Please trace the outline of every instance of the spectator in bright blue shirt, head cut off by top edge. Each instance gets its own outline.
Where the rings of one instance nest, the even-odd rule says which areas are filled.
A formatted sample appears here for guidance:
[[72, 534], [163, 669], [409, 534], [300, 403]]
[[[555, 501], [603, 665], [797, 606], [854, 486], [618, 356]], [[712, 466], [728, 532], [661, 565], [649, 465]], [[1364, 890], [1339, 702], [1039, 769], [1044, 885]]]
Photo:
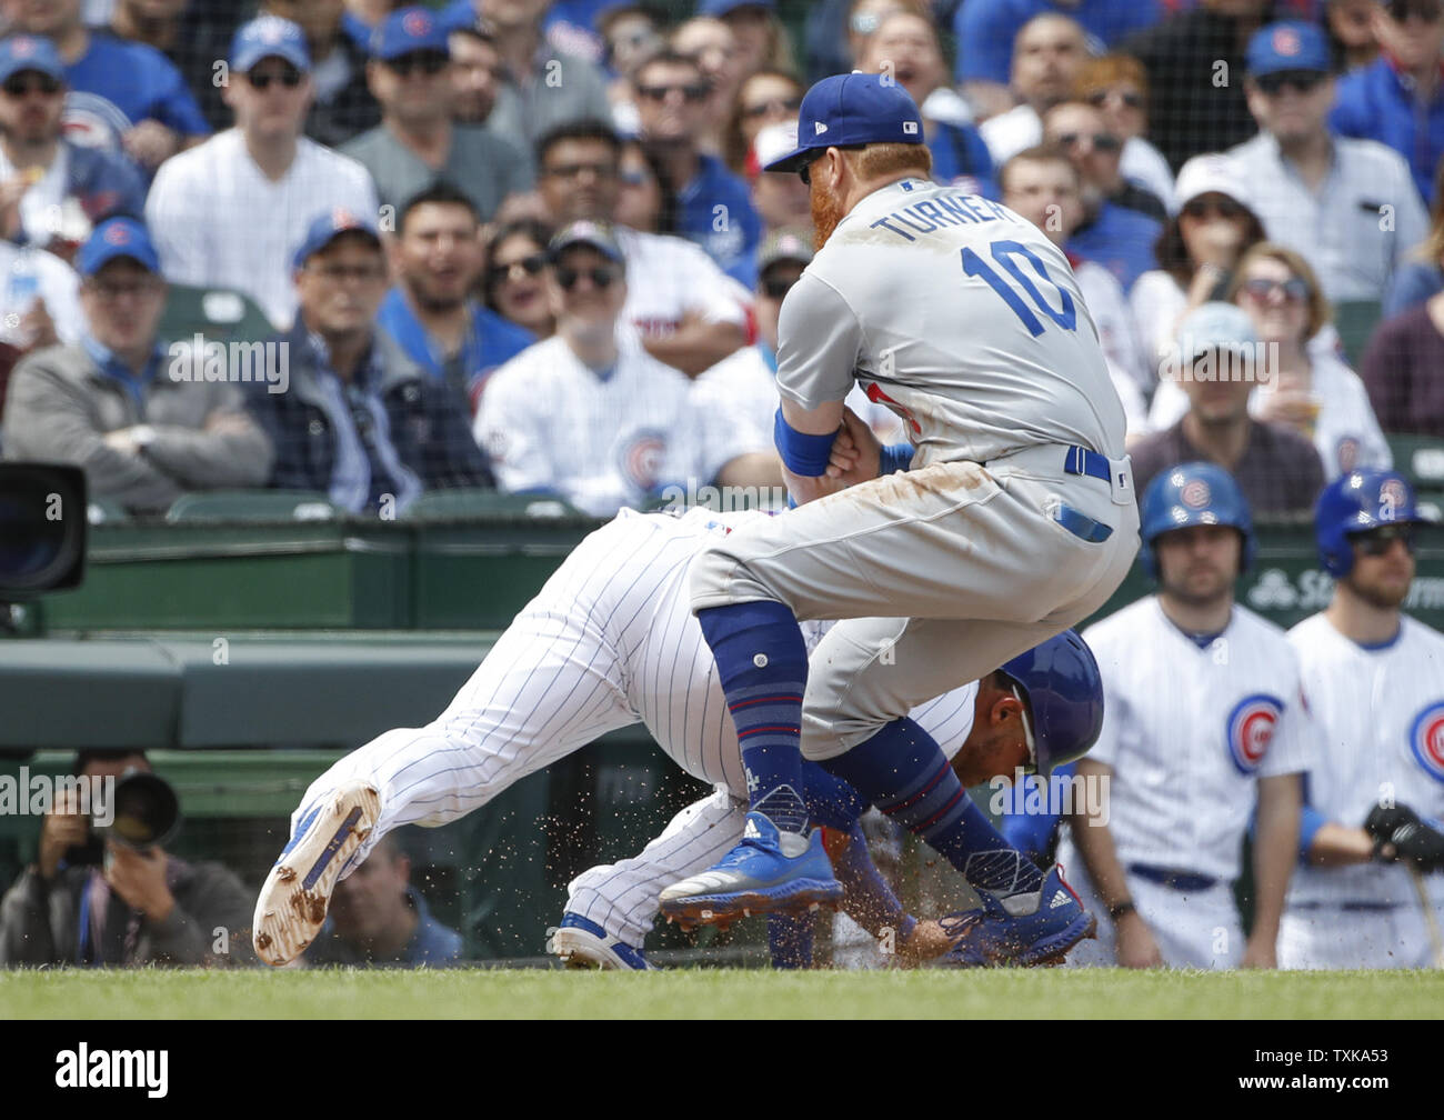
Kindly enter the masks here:
[[1164, 9], [1160, 0], [967, 0], [953, 17], [957, 82], [985, 116], [1001, 113], [1012, 105], [1008, 94], [1012, 40], [1034, 16], [1057, 12], [1077, 20], [1093, 53], [1102, 53], [1102, 48], [1113, 46], [1125, 35], [1155, 25]]

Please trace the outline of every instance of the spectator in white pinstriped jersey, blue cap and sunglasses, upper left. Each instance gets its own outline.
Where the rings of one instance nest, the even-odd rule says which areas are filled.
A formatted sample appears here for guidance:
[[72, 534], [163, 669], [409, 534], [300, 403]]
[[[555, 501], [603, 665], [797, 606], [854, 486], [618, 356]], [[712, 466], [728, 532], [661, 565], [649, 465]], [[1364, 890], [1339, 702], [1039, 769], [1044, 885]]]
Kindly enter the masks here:
[[243, 25], [225, 87], [235, 127], [166, 160], [146, 199], [166, 279], [244, 292], [276, 329], [296, 318], [290, 259], [316, 212], [377, 214], [367, 169], [302, 134], [310, 97], [300, 27], [276, 16]]

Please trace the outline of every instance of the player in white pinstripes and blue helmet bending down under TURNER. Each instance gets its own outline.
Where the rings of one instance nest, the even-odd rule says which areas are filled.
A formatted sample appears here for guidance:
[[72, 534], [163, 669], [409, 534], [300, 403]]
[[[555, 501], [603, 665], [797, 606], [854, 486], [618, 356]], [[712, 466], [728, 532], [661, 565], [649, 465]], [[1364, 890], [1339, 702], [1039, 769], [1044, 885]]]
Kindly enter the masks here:
[[[292, 840], [257, 900], [253, 929], [261, 958], [284, 964], [300, 955], [325, 919], [341, 873], [360, 866], [391, 830], [456, 819], [618, 727], [644, 723], [684, 770], [745, 798], [736, 737], [689, 610], [686, 577], [706, 542], [755, 519], [767, 514], [699, 509], [674, 517], [624, 510], [591, 533], [446, 711], [426, 727], [378, 736], [310, 785], [292, 818]], [[980, 780], [976, 773], [1009, 775], [1028, 762], [1047, 769], [1087, 750], [1096, 734], [1096, 669], [1074, 634], [1057, 643], [1069, 646], [1061, 658], [1073, 676], [1082, 672], [1083, 686], [1070, 701], [1082, 715], [1058, 714], [1063, 692], [1050, 682], [1063, 678], [1064, 665], [1038, 662], [1043, 655], [1011, 668], [1011, 679], [1027, 692], [995, 678], [914, 712], [950, 754], [966, 746], [960, 766], [970, 780]], [[809, 798], [823, 821], [842, 828], [865, 808], [846, 783], [816, 767]], [[736, 843], [741, 830], [738, 817], [735, 827], [713, 830], [696, 845], [689, 841], [684, 851], [669, 844], [664, 871], [644, 905], [656, 912], [670, 876], [706, 866]], [[299, 876], [297, 867], [305, 869]], [[635, 896], [627, 902], [637, 905]], [[598, 925], [617, 928], [606, 915]], [[944, 938], [939, 949], [947, 945]], [[999, 945], [995, 955], [1011, 954]]]

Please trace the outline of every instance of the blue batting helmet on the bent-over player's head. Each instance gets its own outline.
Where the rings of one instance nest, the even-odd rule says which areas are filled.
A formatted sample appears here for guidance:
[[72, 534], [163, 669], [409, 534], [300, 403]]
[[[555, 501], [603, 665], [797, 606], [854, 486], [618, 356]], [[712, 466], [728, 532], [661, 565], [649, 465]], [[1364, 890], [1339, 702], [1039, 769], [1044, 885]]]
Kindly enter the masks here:
[[1001, 672], [1028, 698], [1038, 773], [1087, 754], [1103, 730], [1103, 678], [1076, 630], [1054, 634]]

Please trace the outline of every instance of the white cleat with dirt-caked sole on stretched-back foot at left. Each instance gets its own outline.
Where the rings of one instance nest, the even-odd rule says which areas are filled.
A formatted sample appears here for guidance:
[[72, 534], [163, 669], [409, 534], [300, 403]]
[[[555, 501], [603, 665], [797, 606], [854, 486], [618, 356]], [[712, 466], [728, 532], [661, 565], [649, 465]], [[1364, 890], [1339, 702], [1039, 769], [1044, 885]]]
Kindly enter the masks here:
[[348, 782], [316, 802], [296, 825], [256, 899], [251, 939], [266, 964], [290, 964], [326, 921], [331, 892], [381, 815], [381, 796]]

